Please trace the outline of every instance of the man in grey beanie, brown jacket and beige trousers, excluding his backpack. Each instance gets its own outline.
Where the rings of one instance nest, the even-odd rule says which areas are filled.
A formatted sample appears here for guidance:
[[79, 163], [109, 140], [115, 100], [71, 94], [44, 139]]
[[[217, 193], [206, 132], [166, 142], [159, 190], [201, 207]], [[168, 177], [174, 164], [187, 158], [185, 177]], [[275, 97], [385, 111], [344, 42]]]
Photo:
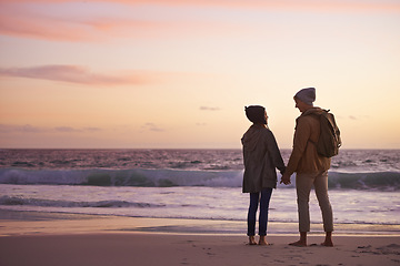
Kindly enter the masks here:
[[290, 176], [296, 172], [296, 190], [299, 212], [300, 239], [289, 245], [307, 246], [307, 233], [310, 232], [309, 197], [314, 186], [322, 212], [326, 239], [323, 246], [333, 246], [333, 214], [328, 197], [328, 170], [331, 160], [318, 154], [316, 143], [320, 135], [319, 114], [323, 112], [314, 108], [316, 89], [306, 88], [294, 95], [296, 108], [301, 115], [296, 120], [293, 150], [281, 183], [290, 184]]

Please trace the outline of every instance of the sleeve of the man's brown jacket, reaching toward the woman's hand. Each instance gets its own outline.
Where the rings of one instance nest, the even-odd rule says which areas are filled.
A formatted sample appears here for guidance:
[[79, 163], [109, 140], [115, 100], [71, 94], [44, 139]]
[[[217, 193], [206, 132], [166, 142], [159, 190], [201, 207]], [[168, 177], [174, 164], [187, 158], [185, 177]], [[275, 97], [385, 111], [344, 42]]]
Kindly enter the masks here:
[[289, 175], [292, 175], [297, 171], [300, 158], [306, 151], [310, 134], [311, 127], [307, 123], [307, 120], [304, 120], [303, 117], [299, 117], [296, 122], [293, 151], [290, 155], [287, 166], [287, 173]]

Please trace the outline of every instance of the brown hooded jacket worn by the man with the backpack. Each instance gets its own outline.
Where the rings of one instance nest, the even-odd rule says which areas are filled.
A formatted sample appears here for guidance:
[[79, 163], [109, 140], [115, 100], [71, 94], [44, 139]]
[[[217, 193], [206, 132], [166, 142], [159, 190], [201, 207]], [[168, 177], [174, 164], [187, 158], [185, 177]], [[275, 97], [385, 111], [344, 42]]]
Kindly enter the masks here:
[[322, 110], [312, 108], [296, 120], [293, 150], [287, 166], [287, 173], [314, 174], [330, 168], [331, 160], [317, 153], [316, 144], [320, 135], [320, 122], [317, 115]]

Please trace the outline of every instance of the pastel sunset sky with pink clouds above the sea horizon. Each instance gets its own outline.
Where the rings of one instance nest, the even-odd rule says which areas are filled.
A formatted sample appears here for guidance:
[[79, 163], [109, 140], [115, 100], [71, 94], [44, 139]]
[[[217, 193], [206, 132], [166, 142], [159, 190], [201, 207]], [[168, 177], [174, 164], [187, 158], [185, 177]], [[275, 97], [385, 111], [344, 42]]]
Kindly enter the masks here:
[[1, 149], [292, 145], [293, 95], [343, 149], [400, 149], [400, 0], [0, 0]]

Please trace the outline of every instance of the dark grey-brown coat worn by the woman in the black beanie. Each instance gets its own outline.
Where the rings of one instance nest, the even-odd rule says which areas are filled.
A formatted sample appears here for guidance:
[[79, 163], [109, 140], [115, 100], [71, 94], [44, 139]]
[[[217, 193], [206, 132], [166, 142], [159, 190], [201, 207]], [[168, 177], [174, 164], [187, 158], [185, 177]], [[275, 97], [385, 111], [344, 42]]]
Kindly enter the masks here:
[[253, 124], [241, 139], [243, 145], [243, 193], [277, 187], [277, 171], [284, 172], [284, 163], [272, 132]]

